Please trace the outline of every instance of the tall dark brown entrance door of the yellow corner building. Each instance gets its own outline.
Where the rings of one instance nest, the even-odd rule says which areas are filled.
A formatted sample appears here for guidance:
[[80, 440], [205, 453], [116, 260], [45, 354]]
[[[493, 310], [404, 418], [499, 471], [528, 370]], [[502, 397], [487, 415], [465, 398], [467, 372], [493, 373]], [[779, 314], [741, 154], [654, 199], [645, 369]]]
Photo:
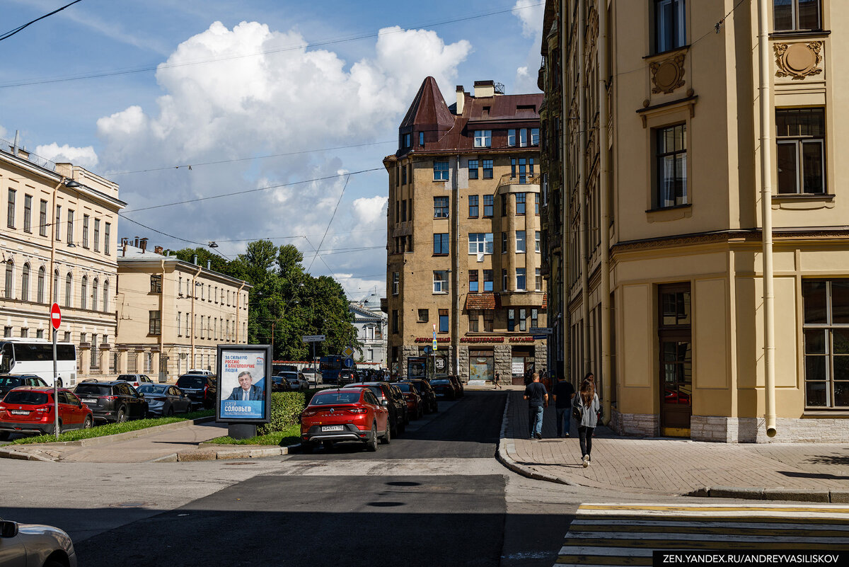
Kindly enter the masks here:
[[661, 435], [689, 437], [693, 413], [693, 345], [689, 283], [660, 287]]

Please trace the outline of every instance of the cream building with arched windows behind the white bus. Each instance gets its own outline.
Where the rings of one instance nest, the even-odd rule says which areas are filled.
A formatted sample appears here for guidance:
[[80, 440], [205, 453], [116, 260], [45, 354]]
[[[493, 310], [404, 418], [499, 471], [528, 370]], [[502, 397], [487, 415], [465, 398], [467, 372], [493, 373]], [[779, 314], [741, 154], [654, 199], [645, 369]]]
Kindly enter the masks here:
[[[109, 373], [116, 334], [118, 184], [55, 164], [0, 140], [3, 336], [50, 340], [50, 305], [62, 309], [59, 341], [77, 347], [76, 382]], [[70, 384], [73, 385], [73, 384]]]

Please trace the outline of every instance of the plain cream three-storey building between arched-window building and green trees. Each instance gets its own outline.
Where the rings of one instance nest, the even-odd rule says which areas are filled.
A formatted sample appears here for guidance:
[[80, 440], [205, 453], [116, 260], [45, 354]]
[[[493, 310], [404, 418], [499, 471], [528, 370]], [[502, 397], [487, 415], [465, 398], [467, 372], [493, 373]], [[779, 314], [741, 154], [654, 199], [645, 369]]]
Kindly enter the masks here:
[[247, 344], [252, 286], [165, 255], [147, 239], [121, 239], [113, 365], [166, 382], [190, 368], [216, 371], [217, 346]]

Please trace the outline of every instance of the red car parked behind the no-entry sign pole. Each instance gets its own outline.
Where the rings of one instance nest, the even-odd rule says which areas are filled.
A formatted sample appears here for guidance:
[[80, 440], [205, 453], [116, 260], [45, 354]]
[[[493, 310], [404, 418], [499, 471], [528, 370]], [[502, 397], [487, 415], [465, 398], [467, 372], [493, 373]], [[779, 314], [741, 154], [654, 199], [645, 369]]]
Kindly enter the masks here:
[[[12, 433], [53, 433], [53, 388], [20, 386], [0, 402], [0, 440]], [[59, 388], [59, 431], [88, 429], [94, 424], [92, 410], [65, 388]]]

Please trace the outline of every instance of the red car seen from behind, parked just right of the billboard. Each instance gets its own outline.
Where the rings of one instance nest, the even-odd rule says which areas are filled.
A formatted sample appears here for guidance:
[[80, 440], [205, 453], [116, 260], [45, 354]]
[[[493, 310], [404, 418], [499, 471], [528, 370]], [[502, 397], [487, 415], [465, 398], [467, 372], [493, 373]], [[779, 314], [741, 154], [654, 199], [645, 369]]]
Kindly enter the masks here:
[[378, 439], [389, 443], [390, 435], [389, 411], [368, 388], [323, 390], [301, 412], [304, 451], [335, 441], [358, 441], [368, 451], [377, 451]]

